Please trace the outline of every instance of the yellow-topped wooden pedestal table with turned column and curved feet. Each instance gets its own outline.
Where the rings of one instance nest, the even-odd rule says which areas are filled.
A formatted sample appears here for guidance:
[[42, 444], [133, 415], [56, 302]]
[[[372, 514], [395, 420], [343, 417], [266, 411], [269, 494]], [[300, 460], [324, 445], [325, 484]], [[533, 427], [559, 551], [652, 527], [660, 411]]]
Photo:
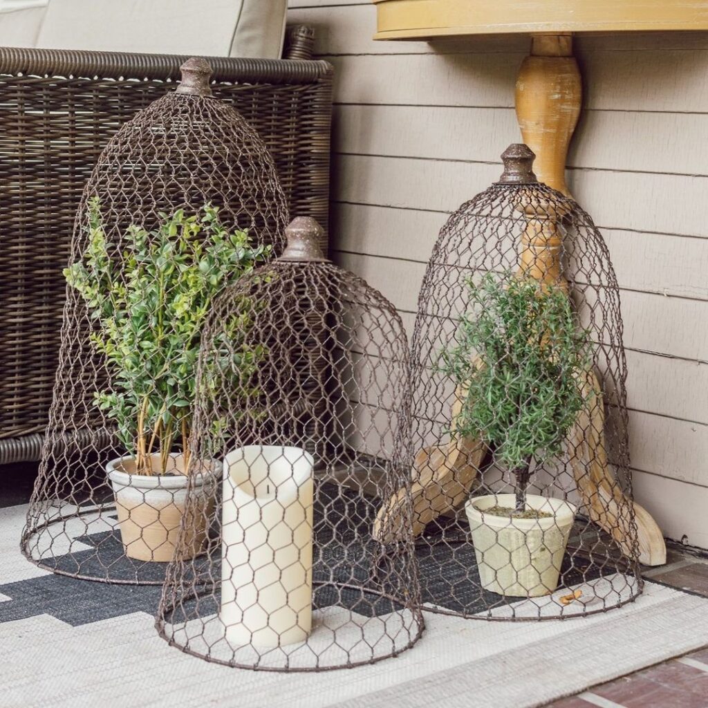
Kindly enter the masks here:
[[[532, 35], [530, 55], [524, 59], [516, 82], [516, 113], [523, 141], [536, 154], [534, 171], [540, 182], [570, 195], [566, 184], [568, 148], [580, 115], [582, 83], [578, 64], [573, 57], [572, 33], [586, 31], [628, 30], [704, 30], [708, 29], [708, 8], [694, 4], [666, 3], [665, 0], [598, 0], [578, 3], [577, 0], [547, 0], [543, 3], [524, 0], [373, 0], [377, 6], [377, 35], [381, 40], [432, 40], [442, 37], [496, 33], [527, 33]], [[513, 136], [510, 136], [510, 140]], [[562, 215], [554, 215], [562, 218]], [[547, 221], [545, 222], [548, 223]], [[555, 282], [567, 287], [560, 269], [561, 235], [534, 229], [534, 219], [520, 244], [520, 270], [542, 282]], [[600, 392], [600, 382], [593, 371], [588, 372], [584, 386]], [[601, 406], [590, 411], [593, 426], [578, 421], [573, 432], [575, 442], [583, 450], [583, 464], [578, 464], [576, 481], [584, 506], [595, 523], [604, 527], [624, 549], [629, 540], [622, 529], [617, 530], [612, 514], [624, 518], [622, 508], [632, 503], [618, 491], [607, 464], [602, 432], [604, 411]], [[599, 426], [599, 428], [598, 428]], [[593, 434], [596, 429], [599, 433]], [[578, 438], [577, 436], [581, 436]], [[445, 513], [440, 496], [457, 500], [467, 496], [475, 474], [469, 464], [461, 461], [461, 450], [473, 450], [481, 457], [474, 441], [455, 440], [447, 447], [426, 448], [418, 452], [413, 471], [413, 504], [423, 508], [426, 523]], [[451, 459], [451, 456], [454, 459]], [[479, 464], [479, 463], [477, 463]], [[581, 468], [593, 474], [581, 475]], [[453, 474], [463, 469], [462, 476]], [[444, 492], [444, 493], [443, 493]], [[398, 513], [399, 499], [387, 500], [379, 515], [377, 528], [383, 536], [394, 530], [392, 519]], [[449, 506], [449, 503], [447, 504]], [[607, 510], [610, 513], [607, 513]], [[640, 560], [646, 565], [666, 562], [666, 544], [651, 515], [634, 503], [639, 536]], [[420, 524], [418, 525], [421, 526]], [[627, 536], [629, 536], [627, 530]]]

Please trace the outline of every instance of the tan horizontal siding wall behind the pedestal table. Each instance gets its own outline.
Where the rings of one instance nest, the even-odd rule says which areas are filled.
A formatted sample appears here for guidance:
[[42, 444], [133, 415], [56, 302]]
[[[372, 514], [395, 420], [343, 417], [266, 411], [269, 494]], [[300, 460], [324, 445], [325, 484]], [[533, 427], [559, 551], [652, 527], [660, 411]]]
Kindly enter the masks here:
[[[410, 327], [438, 229], [520, 139], [525, 38], [373, 42], [367, 0], [290, 0], [336, 67], [334, 257]], [[569, 186], [622, 288], [636, 496], [708, 547], [708, 33], [576, 40], [586, 96]]]

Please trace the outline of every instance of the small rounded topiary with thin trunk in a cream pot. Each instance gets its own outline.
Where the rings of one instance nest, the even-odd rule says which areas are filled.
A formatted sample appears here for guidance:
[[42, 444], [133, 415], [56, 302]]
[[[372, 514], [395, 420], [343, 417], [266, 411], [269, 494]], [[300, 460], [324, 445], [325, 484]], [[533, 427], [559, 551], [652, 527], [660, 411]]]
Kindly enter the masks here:
[[461, 435], [476, 435], [511, 473], [513, 494], [472, 497], [465, 506], [482, 586], [535, 597], [558, 584], [576, 508], [527, 493], [532, 466], [559, 454], [588, 405], [580, 382], [591, 360], [568, 295], [527, 277], [488, 273], [468, 283], [471, 307], [442, 370], [463, 392]]

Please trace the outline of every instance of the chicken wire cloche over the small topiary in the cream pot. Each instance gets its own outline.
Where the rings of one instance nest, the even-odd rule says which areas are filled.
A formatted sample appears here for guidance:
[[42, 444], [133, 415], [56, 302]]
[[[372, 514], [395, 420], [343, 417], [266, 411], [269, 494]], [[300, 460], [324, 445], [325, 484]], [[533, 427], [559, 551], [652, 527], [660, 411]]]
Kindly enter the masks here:
[[[411, 353], [413, 534], [426, 607], [545, 619], [641, 592], [619, 290], [592, 219], [525, 145], [442, 227]], [[377, 516], [397, 538], [409, 490]]]

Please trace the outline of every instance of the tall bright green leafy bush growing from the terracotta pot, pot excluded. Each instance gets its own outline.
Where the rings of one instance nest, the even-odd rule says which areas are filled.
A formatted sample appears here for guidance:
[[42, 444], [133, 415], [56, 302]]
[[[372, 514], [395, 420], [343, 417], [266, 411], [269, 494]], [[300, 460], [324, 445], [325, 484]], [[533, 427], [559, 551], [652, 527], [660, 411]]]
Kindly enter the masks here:
[[[270, 254], [269, 246], [251, 246], [247, 232], [225, 229], [211, 205], [198, 215], [160, 217], [152, 232], [128, 227], [118, 253], [106, 239], [98, 200], [91, 201], [86, 252], [64, 270], [96, 321], [91, 342], [110, 370], [110, 391], [96, 392], [96, 405], [115, 421], [138, 474], [153, 474], [154, 452], [164, 474], [180, 442], [188, 464], [202, 324], [217, 293]], [[245, 341], [246, 315], [224, 324], [234, 354], [219, 370], [246, 392], [263, 350]]]

